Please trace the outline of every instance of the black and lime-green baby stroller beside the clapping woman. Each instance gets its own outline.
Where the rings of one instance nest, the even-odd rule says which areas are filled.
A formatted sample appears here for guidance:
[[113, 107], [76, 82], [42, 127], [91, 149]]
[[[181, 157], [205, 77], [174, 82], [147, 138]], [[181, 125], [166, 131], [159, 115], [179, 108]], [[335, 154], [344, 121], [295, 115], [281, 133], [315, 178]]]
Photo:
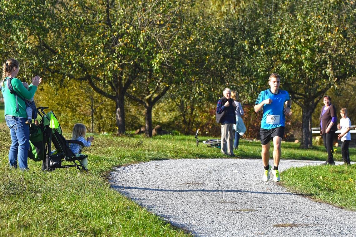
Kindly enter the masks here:
[[[88, 155], [79, 156], [75, 155], [72, 150], [70, 150], [69, 145], [71, 143], [76, 143], [83, 146], [83, 142], [77, 140], [66, 140], [62, 135], [61, 126], [58, 123], [58, 120], [52, 111], [45, 113], [44, 110], [48, 109], [48, 107], [38, 107], [37, 113], [41, 116], [41, 121], [36, 126], [35, 124], [31, 124], [30, 128], [30, 152], [29, 158], [32, 156], [33, 160], [42, 160], [42, 170], [45, 171], [53, 171], [54, 169], [58, 168], [69, 168], [69, 167], [77, 167], [80, 171], [88, 171], [87, 168], [84, 167], [81, 160], [88, 157]], [[41, 111], [41, 113], [39, 112]], [[31, 135], [39, 134], [42, 132], [42, 144], [40, 141], [41, 139], [32, 139]], [[55, 150], [52, 150], [52, 144]], [[43, 149], [41, 153], [40, 150]], [[32, 151], [31, 151], [32, 150]], [[81, 151], [80, 151], [81, 152]], [[79, 152], [79, 153], [80, 153]], [[34, 159], [36, 158], [36, 159]], [[62, 162], [72, 162], [72, 165], [63, 165]]]

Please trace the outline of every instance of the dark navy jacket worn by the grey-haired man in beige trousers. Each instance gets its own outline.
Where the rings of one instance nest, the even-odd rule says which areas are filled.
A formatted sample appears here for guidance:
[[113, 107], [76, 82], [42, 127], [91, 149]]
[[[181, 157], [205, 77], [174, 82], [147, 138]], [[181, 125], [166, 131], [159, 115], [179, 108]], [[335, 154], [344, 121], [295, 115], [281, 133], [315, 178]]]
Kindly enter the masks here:
[[233, 99], [229, 99], [229, 107], [225, 107], [227, 99], [225, 97], [218, 100], [218, 105], [216, 106], [216, 122], [218, 123], [233, 123], [236, 124], [236, 104]]

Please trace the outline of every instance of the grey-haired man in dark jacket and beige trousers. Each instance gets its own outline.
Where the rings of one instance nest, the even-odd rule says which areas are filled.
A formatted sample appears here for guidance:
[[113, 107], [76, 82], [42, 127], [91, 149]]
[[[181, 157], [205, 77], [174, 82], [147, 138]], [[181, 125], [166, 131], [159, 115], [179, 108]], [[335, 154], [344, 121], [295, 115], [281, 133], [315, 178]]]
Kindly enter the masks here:
[[225, 88], [224, 97], [220, 98], [216, 106], [216, 122], [221, 123], [221, 152], [225, 155], [234, 154], [234, 124], [236, 124], [236, 104], [231, 98], [231, 90]]

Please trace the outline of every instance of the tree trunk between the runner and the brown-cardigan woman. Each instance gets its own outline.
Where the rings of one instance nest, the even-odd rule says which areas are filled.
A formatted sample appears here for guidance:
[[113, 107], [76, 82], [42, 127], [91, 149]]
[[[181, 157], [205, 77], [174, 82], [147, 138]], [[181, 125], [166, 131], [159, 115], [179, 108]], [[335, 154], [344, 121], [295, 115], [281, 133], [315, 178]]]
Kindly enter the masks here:
[[312, 113], [313, 108], [304, 104], [302, 107], [302, 141], [300, 148], [308, 149], [313, 145], [312, 142]]

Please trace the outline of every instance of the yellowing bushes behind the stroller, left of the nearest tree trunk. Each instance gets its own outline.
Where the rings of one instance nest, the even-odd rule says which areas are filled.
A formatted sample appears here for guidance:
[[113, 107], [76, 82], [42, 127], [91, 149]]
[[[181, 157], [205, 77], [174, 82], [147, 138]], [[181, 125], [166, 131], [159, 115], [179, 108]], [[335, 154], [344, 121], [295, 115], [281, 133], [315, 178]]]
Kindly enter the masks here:
[[59, 89], [40, 85], [35, 95], [36, 106], [49, 107], [46, 111], [56, 114], [64, 131], [71, 132], [74, 124], [83, 123], [89, 133], [116, 132], [115, 118], [107, 113], [115, 109], [112, 101], [83, 82], [66, 80], [65, 85]]

